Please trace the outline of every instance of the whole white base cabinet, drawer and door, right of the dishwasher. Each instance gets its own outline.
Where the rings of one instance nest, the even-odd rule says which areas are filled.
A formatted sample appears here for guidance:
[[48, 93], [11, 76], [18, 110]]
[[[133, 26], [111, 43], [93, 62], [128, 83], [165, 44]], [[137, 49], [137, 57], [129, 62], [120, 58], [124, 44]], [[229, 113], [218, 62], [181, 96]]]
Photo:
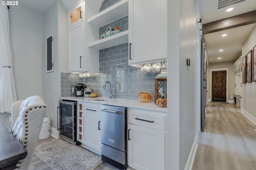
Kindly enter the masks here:
[[136, 170], [164, 170], [165, 115], [128, 108], [128, 165]]

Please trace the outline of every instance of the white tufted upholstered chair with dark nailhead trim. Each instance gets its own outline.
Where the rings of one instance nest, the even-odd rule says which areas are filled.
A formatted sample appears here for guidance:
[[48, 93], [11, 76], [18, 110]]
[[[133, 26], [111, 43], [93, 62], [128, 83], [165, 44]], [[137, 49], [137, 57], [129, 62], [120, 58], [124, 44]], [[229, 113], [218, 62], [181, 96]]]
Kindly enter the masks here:
[[27, 150], [26, 158], [20, 160], [17, 168], [28, 170], [41, 131], [46, 104], [39, 96], [31, 96], [12, 104], [11, 133]]

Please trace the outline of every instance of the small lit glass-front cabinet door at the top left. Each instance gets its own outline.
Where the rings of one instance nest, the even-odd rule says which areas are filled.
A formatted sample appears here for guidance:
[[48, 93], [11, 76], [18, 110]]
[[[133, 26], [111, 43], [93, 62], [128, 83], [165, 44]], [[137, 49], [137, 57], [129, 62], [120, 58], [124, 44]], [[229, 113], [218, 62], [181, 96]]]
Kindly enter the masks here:
[[84, 3], [75, 6], [68, 12], [69, 27], [84, 20]]

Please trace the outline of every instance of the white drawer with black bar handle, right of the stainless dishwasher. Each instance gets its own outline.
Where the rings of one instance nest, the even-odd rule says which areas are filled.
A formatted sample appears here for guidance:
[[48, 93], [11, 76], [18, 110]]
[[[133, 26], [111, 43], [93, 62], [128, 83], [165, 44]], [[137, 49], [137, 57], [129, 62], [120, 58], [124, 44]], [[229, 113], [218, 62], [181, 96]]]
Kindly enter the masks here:
[[128, 108], [128, 117], [129, 123], [164, 131], [165, 116], [157, 111]]

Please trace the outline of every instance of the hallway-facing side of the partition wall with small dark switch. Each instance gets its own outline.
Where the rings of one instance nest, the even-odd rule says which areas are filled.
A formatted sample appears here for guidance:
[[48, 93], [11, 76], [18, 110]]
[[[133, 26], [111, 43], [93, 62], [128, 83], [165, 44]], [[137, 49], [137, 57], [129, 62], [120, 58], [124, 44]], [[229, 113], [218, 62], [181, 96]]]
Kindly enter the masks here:
[[[184, 170], [197, 137], [196, 0], [180, 0], [180, 170]], [[190, 66], [187, 66], [190, 59]]]

